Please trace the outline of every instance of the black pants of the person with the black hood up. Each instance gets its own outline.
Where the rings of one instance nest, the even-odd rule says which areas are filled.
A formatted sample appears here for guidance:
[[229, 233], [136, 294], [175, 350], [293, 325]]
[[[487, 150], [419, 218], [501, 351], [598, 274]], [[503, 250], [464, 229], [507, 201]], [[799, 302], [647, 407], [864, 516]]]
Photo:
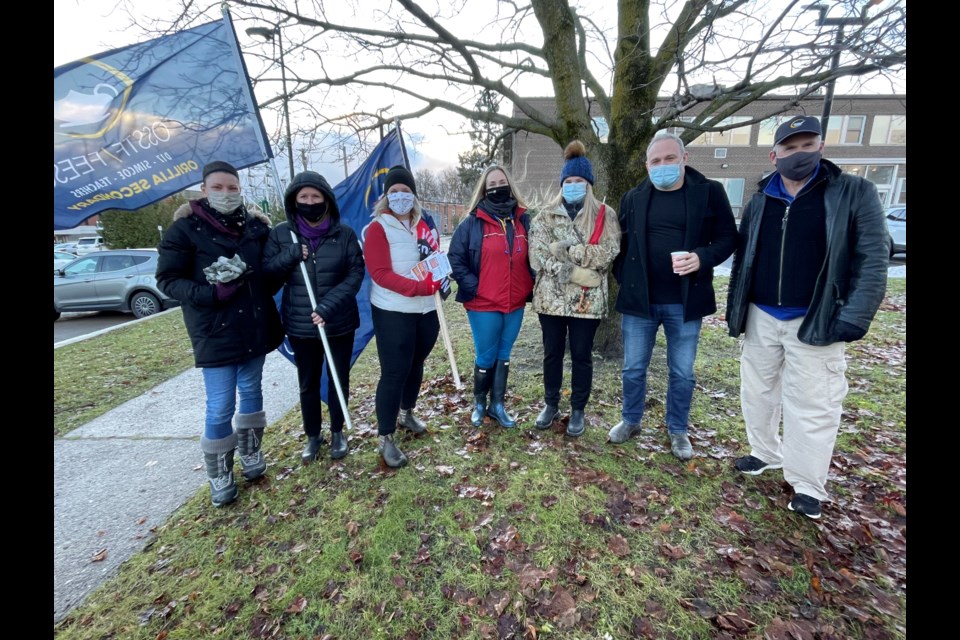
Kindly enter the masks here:
[[[350, 357], [353, 355], [353, 334], [327, 336], [333, 364], [337, 368], [343, 399], [350, 400]], [[297, 379], [300, 381], [300, 413], [303, 414], [303, 430], [308, 436], [320, 435], [323, 419], [323, 404], [320, 401], [320, 376], [323, 374], [323, 342], [319, 333], [316, 338], [289, 336], [293, 347], [293, 360], [297, 363]], [[330, 430], [343, 431], [343, 409], [337, 397], [333, 376], [327, 371], [327, 407], [330, 409]]]

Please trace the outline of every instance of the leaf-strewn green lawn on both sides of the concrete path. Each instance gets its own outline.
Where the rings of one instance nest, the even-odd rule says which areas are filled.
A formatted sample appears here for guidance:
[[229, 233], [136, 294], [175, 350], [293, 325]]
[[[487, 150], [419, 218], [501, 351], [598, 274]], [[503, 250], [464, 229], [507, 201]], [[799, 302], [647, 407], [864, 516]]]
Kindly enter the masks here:
[[[718, 291], [726, 285], [717, 279]], [[643, 432], [614, 447], [605, 441], [619, 420], [618, 359], [596, 359], [583, 437], [567, 438], [562, 423], [533, 429], [542, 349], [529, 310], [507, 398], [519, 428], [471, 427], [470, 332], [462, 306], [450, 300], [444, 309], [468, 386], [454, 388], [438, 340], [418, 404], [430, 429], [398, 435], [407, 468], [378, 463], [371, 344], [352, 372], [347, 458], [301, 466], [294, 409], [265, 436], [264, 478], [244, 483], [223, 509], [200, 491], [55, 627], [57, 637], [906, 637], [905, 280], [889, 281], [870, 333], [847, 349], [833, 501], [817, 522], [786, 509], [779, 471], [748, 477], [732, 468], [748, 447], [739, 342], [722, 319], [704, 323], [691, 414], [696, 456], [681, 463], [663, 422], [662, 336]], [[142, 352], [171, 359], [170, 375], [189, 366], [180, 359], [189, 356], [182, 321], [173, 318], [165, 322], [180, 322], [182, 336], [164, 326], [81, 343], [85, 376], [61, 374], [68, 367], [59, 350], [57, 433], [118, 404], [117, 381], [129, 381], [124, 399], [159, 382], [146, 382], [161, 367]], [[129, 342], [101, 345], [121, 338]], [[92, 361], [110, 371], [94, 374]], [[87, 399], [68, 406], [61, 395], [70, 388], [72, 398], [73, 385]], [[561, 409], [569, 415], [569, 403]]]

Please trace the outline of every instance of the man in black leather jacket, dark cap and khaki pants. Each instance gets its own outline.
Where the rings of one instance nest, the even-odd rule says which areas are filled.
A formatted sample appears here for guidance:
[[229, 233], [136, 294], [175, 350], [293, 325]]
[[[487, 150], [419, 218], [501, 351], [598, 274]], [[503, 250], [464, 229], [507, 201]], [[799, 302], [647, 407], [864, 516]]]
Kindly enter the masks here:
[[822, 158], [817, 118], [790, 118], [774, 140], [777, 170], [744, 209], [727, 297], [730, 335], [744, 334], [751, 448], [735, 466], [782, 468], [789, 509], [816, 519], [847, 394], [844, 343], [866, 335], [883, 300], [889, 240], [873, 183]]

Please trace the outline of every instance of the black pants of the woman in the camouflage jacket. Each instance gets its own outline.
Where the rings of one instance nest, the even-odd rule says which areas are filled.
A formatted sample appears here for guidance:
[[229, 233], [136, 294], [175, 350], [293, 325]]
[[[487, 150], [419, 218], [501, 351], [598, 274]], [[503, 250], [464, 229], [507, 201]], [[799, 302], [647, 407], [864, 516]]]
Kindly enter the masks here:
[[563, 354], [570, 338], [570, 408], [583, 410], [593, 388], [593, 338], [600, 320], [537, 314], [543, 331], [543, 399], [548, 405], [560, 404], [563, 384]]

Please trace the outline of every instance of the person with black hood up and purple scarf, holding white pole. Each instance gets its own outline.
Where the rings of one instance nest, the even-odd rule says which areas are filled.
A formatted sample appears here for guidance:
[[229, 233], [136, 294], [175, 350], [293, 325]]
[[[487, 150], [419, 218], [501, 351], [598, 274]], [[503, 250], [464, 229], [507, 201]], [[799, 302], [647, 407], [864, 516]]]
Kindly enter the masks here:
[[[309, 464], [320, 455], [320, 447], [325, 442], [320, 431], [324, 350], [317, 327], [323, 327], [327, 334], [328, 355], [333, 358], [346, 399], [353, 338], [360, 326], [357, 292], [363, 284], [363, 252], [353, 229], [340, 224], [340, 209], [333, 189], [319, 173], [304, 171], [294, 176], [284, 193], [283, 205], [287, 221], [270, 232], [264, 250], [264, 267], [268, 274], [281, 278], [286, 285], [281, 313], [300, 382], [300, 411], [307, 435], [301, 458], [304, 464]], [[304, 282], [301, 262], [306, 262], [309, 282]], [[316, 307], [310, 303], [307, 286], [313, 290]], [[333, 376], [328, 375], [330, 457], [336, 460], [347, 455], [349, 446], [343, 434], [343, 409], [334, 385]]]

